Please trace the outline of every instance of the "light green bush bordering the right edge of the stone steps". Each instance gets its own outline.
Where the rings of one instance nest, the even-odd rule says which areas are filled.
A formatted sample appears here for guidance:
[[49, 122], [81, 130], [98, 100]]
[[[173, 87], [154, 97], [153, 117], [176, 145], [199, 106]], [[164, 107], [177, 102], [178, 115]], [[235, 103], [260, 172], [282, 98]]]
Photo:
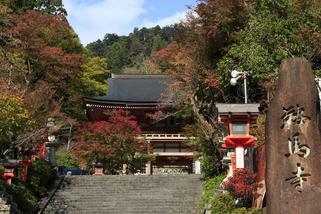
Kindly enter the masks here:
[[218, 176], [215, 176], [214, 178], [210, 178], [209, 180], [203, 182], [202, 187], [203, 187], [203, 195], [202, 195], [202, 207], [206, 203], [209, 203], [209, 197], [212, 197], [214, 194], [215, 189], [220, 188], [220, 184], [225, 178], [225, 173], [222, 173]]

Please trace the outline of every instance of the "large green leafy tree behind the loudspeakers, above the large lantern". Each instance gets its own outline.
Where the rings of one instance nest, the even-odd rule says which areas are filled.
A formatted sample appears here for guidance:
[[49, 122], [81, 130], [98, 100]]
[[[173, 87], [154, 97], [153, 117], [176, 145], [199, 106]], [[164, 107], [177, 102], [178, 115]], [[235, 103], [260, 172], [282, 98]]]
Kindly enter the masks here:
[[[237, 86], [240, 93], [232, 94], [230, 91], [235, 91], [235, 87], [226, 83], [231, 70], [251, 70], [253, 75], [249, 78], [248, 98], [250, 101], [263, 101], [268, 106], [268, 92], [260, 88], [262, 84], [267, 84], [264, 79], [275, 81], [282, 60], [302, 56], [308, 58], [314, 48], [320, 47], [321, 23], [318, 17], [321, 4], [313, 4], [313, 1], [260, 0], [253, 7], [247, 26], [219, 60], [217, 71], [222, 72], [221, 81], [228, 91], [228, 98], [242, 100], [242, 85]], [[313, 65], [313, 68], [319, 75], [320, 66]]]

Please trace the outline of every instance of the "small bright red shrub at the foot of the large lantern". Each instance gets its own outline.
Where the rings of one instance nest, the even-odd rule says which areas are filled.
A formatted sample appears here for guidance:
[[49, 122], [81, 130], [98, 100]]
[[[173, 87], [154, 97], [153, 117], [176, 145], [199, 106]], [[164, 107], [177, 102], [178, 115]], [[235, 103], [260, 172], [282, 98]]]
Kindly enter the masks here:
[[260, 196], [256, 191], [263, 187], [263, 184], [255, 181], [255, 177], [256, 173], [251, 170], [235, 170], [233, 176], [229, 177], [223, 186], [234, 198], [251, 200]]

